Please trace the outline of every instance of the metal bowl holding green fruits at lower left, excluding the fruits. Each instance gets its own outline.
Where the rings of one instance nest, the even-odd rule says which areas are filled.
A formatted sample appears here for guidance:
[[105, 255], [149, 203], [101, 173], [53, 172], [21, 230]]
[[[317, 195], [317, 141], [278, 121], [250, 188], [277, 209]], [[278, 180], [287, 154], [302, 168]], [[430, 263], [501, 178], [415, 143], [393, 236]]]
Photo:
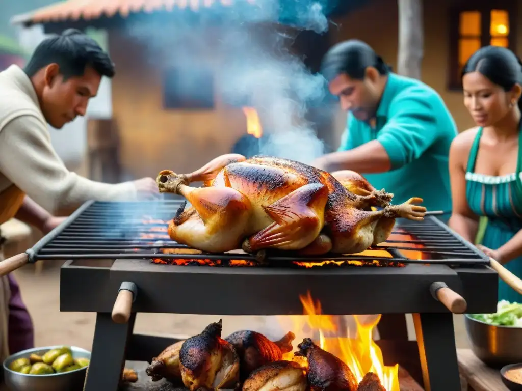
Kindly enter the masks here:
[[[41, 356], [46, 351], [61, 347], [63, 345], [27, 349], [6, 358], [4, 361], [4, 381], [7, 388], [11, 391], [74, 391], [83, 389], [87, 373], [86, 366], [75, 371], [53, 373], [51, 375], [28, 375], [9, 369], [11, 362], [16, 359], [29, 357], [33, 353]], [[76, 346], [70, 347], [70, 350], [75, 359], [91, 358], [91, 353], [88, 350]]]

